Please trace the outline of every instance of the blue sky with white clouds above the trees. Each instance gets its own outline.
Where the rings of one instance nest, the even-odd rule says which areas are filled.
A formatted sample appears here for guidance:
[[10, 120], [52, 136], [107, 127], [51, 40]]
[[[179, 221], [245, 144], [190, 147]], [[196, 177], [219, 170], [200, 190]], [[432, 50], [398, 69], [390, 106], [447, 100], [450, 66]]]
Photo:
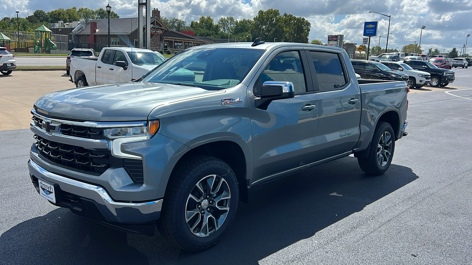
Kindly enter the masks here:
[[[108, 3], [120, 17], [136, 17], [138, 0], [0, 0], [0, 17], [15, 17], [20, 11], [26, 17], [36, 9], [51, 11], [72, 6], [100, 8]], [[391, 15], [388, 48], [401, 49], [409, 43], [420, 42], [429, 48], [460, 50], [466, 35], [472, 35], [472, 0], [151, 0], [152, 8], [161, 11], [161, 17], [184, 19], [187, 25], [200, 16], [211, 16], [215, 22], [219, 17], [235, 19], [253, 18], [259, 10], [278, 9], [304, 17], [311, 24], [309, 40], [328, 41], [328, 35], [344, 34], [344, 40], [362, 43], [364, 21], [379, 21], [379, 35], [387, 34], [388, 17], [368, 11]], [[379, 36], [378, 35], [378, 36]], [[371, 46], [379, 44], [379, 37], [371, 38]], [[472, 54], [472, 36], [467, 50]], [[387, 36], [380, 38], [385, 47]], [[469, 47], [470, 46], [470, 47]]]

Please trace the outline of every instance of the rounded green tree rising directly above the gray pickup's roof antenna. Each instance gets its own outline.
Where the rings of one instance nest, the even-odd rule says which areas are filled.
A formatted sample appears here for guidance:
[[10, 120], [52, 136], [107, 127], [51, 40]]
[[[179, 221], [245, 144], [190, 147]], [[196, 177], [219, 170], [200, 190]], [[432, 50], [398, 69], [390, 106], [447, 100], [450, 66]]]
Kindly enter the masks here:
[[284, 41], [285, 25], [278, 9], [259, 10], [254, 17], [253, 37], [260, 37], [263, 41]]

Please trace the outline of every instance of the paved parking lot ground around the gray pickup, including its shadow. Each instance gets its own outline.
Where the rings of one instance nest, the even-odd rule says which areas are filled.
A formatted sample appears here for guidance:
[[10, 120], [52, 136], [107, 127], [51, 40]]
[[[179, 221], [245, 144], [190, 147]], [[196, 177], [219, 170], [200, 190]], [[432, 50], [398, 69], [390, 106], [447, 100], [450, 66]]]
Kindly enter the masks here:
[[19, 130], [1, 124], [0, 264], [472, 264], [472, 69], [454, 70], [447, 88], [408, 95], [409, 135], [386, 174], [367, 176], [345, 157], [258, 186], [223, 240], [200, 253], [41, 198], [26, 166], [33, 134], [21, 126], [35, 97], [72, 83], [60, 71], [1, 77], [0, 122], [9, 104]]

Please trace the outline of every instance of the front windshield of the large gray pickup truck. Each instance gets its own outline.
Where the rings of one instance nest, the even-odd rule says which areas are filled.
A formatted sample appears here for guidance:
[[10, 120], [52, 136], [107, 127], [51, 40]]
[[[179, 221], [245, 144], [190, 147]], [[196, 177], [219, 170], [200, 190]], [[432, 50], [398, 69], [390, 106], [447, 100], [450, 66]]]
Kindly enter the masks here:
[[241, 83], [264, 51], [230, 48], [186, 50], [152, 70], [143, 82], [178, 82], [207, 90], [231, 88]]

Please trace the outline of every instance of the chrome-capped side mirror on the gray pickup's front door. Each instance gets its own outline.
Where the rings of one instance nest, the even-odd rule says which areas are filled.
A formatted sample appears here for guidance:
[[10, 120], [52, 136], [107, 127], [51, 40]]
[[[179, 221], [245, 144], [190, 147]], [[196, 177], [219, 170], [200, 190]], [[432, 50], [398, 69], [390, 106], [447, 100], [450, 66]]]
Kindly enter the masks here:
[[262, 84], [261, 98], [256, 99], [256, 107], [267, 110], [270, 102], [277, 99], [292, 99], [295, 97], [292, 82], [267, 81]]

